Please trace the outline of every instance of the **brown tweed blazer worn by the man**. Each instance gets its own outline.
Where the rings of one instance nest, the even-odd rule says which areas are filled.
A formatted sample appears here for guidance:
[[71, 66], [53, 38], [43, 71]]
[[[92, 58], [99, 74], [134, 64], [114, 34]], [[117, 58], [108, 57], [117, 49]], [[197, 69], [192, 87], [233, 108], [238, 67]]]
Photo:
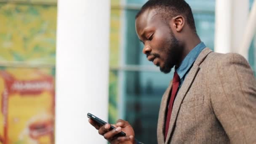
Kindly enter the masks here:
[[256, 144], [256, 80], [243, 56], [203, 49], [176, 95], [165, 141], [171, 87], [160, 105], [158, 144]]

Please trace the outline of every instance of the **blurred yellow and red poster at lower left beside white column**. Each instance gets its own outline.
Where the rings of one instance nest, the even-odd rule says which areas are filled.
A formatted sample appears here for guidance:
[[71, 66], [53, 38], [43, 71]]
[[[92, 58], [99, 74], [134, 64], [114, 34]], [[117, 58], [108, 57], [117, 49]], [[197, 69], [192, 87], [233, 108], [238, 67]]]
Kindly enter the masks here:
[[0, 140], [3, 144], [54, 143], [51, 68], [0, 70]]

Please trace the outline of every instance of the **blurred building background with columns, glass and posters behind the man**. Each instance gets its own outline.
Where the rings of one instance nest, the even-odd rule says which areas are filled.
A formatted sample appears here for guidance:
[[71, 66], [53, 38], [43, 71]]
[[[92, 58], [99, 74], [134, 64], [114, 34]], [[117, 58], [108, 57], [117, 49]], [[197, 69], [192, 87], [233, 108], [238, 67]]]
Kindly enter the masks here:
[[[146, 1], [0, 0], [0, 143], [107, 143], [91, 112], [127, 120], [136, 139], [156, 144], [173, 72], [142, 53], [135, 15]], [[186, 1], [205, 45], [242, 54], [255, 73], [254, 0]]]

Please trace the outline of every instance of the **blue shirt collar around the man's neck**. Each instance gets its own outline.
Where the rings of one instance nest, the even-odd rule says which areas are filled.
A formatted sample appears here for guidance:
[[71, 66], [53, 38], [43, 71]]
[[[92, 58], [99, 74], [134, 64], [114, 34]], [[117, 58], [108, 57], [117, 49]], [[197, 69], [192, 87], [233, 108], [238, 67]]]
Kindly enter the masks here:
[[189, 54], [187, 54], [185, 59], [181, 62], [180, 67], [176, 69], [176, 72], [178, 73], [180, 79], [184, 78], [184, 75], [186, 75], [187, 71], [197, 59], [197, 56], [205, 47], [205, 44], [201, 42], [195, 48], [193, 48], [192, 51], [189, 52]]

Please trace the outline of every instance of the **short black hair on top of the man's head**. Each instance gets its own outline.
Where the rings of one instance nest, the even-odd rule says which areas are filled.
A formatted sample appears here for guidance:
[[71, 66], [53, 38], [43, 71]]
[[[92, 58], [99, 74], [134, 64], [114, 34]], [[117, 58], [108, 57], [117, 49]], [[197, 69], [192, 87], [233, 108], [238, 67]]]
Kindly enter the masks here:
[[185, 0], [149, 0], [141, 7], [135, 18], [137, 19], [144, 11], [153, 8], [162, 14], [164, 21], [177, 15], [184, 16], [189, 27], [196, 33], [192, 10]]

